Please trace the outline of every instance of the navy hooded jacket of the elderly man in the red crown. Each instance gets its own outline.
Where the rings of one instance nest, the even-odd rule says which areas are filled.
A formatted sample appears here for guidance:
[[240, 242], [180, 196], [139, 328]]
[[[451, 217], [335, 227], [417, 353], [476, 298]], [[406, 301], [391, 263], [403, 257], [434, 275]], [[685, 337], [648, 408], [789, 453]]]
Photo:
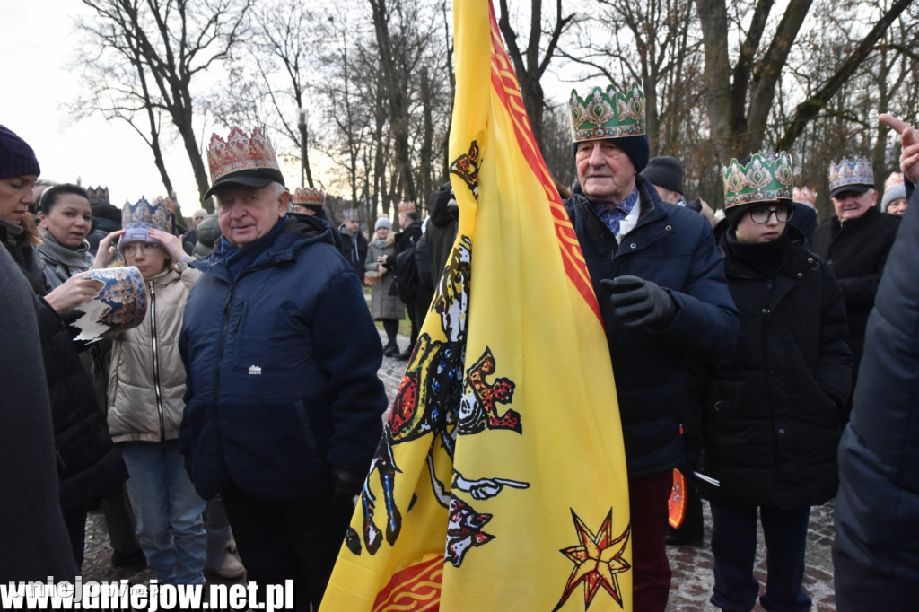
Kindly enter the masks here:
[[179, 432], [205, 499], [231, 483], [265, 499], [327, 494], [380, 441], [382, 345], [360, 281], [323, 221], [287, 221], [233, 280], [224, 249], [192, 263], [179, 347]]

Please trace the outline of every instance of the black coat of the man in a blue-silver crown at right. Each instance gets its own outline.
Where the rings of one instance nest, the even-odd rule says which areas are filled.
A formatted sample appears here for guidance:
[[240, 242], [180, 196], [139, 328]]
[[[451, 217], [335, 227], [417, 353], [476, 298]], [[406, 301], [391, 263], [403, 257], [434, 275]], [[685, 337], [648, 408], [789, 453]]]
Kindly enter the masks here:
[[813, 233], [811, 250], [826, 262], [843, 290], [848, 345], [856, 368], [865, 344], [868, 313], [899, 227], [900, 217], [871, 208], [845, 223], [838, 217], [827, 219]]

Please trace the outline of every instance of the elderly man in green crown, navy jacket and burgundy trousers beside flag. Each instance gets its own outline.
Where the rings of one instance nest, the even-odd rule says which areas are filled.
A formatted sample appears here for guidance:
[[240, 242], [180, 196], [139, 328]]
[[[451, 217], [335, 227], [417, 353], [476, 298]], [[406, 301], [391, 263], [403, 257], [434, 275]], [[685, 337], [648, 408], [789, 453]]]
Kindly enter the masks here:
[[[667, 499], [680, 461], [686, 363], [730, 348], [740, 321], [709, 222], [664, 204], [644, 96], [610, 85], [569, 102], [578, 182], [566, 202], [607, 330], [629, 470], [633, 606], [663, 612]], [[590, 372], [584, 372], [590, 378]]]

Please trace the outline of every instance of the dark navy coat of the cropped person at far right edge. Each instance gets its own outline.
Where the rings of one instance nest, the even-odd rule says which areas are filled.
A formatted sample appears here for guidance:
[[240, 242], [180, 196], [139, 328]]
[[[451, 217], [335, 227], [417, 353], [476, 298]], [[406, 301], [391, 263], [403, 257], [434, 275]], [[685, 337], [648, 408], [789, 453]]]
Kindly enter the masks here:
[[913, 191], [868, 318], [852, 420], [839, 445], [834, 553], [891, 582], [919, 581], [917, 251], [919, 191]]

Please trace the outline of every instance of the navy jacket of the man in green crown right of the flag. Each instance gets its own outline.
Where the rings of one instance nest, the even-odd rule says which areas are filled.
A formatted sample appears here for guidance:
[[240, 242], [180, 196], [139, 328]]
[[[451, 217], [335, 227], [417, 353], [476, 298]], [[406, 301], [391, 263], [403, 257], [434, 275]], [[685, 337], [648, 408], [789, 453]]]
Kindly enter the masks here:
[[[565, 203], [607, 331], [630, 478], [671, 470], [680, 461], [686, 362], [731, 348], [740, 331], [709, 221], [661, 202], [643, 177], [635, 180], [641, 213], [622, 244], [597, 218], [580, 186]], [[624, 275], [668, 290], [676, 303], [669, 326], [650, 332], [619, 323], [600, 280]], [[588, 381], [590, 374], [580, 373]]]

